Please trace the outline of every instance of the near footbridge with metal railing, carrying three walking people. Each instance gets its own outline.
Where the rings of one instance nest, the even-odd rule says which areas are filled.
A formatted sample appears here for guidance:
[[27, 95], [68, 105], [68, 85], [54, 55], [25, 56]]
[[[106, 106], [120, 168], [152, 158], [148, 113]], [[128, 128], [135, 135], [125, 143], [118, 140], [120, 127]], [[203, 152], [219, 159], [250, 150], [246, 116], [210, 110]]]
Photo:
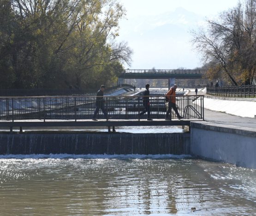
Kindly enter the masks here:
[[143, 96], [107, 96], [103, 97], [107, 119], [100, 112], [99, 121], [93, 121], [95, 96], [69, 97], [0, 97], [0, 128], [23, 127], [88, 127], [88, 126], [189, 126], [191, 121], [204, 119], [203, 96], [176, 96], [179, 114], [184, 117], [178, 120], [172, 112], [170, 119], [165, 120], [167, 103], [164, 95], [149, 96], [151, 118], [143, 111]]

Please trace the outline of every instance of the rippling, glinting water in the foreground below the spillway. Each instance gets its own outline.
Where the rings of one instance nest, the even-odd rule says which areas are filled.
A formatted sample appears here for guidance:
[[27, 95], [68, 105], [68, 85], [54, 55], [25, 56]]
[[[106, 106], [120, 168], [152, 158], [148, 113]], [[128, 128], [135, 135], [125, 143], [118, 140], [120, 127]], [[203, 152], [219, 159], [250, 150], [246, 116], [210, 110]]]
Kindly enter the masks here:
[[0, 159], [1, 214], [256, 212], [255, 170], [172, 155], [34, 156]]

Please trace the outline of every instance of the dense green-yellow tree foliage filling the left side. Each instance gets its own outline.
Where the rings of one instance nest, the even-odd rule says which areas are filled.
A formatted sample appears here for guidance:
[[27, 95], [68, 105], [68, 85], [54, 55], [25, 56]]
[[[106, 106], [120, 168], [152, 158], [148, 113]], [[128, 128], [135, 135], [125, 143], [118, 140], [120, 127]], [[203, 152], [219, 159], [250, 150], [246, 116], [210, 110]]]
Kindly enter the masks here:
[[0, 0], [1, 87], [95, 88], [131, 62], [115, 0]]

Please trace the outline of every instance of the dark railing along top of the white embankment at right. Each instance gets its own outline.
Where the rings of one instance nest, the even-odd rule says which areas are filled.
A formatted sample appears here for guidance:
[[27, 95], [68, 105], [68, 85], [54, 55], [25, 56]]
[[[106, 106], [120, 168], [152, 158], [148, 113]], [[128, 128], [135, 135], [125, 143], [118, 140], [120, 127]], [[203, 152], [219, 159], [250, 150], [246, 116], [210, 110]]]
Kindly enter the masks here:
[[256, 85], [207, 87], [207, 94], [222, 97], [255, 97]]

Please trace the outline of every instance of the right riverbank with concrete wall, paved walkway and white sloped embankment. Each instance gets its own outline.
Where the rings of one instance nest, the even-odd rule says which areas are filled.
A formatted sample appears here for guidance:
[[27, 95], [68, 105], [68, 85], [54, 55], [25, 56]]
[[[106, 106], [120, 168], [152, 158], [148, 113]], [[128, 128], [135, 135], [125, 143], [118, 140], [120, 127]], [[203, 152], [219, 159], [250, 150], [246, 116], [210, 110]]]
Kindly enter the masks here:
[[255, 115], [256, 98], [205, 95], [205, 121], [191, 122], [191, 155], [256, 169]]

